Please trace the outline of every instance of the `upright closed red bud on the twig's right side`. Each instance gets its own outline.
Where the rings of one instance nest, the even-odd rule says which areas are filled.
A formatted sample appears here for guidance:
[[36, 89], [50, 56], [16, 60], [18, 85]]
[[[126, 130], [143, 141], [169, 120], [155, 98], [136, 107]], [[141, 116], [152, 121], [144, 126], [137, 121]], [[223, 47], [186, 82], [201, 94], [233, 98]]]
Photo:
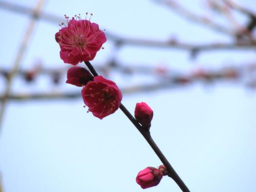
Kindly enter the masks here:
[[137, 103], [135, 107], [135, 118], [145, 128], [151, 127], [153, 111], [145, 102]]

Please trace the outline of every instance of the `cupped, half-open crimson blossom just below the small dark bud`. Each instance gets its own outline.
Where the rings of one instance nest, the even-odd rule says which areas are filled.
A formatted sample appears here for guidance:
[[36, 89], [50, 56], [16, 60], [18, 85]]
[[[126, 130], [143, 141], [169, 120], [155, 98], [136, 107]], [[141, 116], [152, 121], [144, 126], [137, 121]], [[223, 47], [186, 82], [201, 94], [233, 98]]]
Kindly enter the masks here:
[[82, 98], [89, 111], [102, 119], [119, 108], [122, 93], [115, 82], [96, 76], [94, 81], [88, 82], [82, 89]]

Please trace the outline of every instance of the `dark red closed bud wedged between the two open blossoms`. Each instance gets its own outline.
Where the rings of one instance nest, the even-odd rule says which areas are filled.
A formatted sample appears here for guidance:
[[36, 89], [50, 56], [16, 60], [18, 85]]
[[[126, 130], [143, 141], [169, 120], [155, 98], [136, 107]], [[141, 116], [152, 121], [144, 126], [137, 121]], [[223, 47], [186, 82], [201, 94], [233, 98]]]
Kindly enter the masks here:
[[72, 67], [68, 70], [67, 74], [68, 80], [66, 83], [73, 84], [77, 87], [85, 86], [89, 81], [93, 80], [91, 73], [81, 67]]

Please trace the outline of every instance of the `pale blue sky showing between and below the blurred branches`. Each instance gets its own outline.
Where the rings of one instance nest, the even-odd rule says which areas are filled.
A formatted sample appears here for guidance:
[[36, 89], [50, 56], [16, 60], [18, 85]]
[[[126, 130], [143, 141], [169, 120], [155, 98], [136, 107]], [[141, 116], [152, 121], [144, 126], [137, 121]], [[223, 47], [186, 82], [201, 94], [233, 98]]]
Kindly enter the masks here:
[[[10, 1], [33, 6], [34, 0]], [[201, 1], [186, 6], [202, 13]], [[252, 3], [254, 2], [254, 3]], [[255, 1], [243, 1], [247, 6]], [[44, 11], [56, 15], [92, 12], [92, 21], [102, 29], [130, 37], [164, 40], [174, 34], [189, 42], [229, 41], [230, 38], [188, 23], [154, 1], [53, 1]], [[0, 65], [11, 67], [28, 17], [0, 9]], [[241, 18], [243, 20], [244, 18]], [[67, 65], [59, 58], [54, 40], [58, 25], [38, 23], [22, 68], [41, 59], [46, 67]], [[110, 58], [108, 41], [95, 61]], [[229, 63], [255, 60], [253, 51], [216, 51], [191, 61], [186, 51], [123, 47], [117, 59], [123, 63], [166, 63], [177, 70], [197, 66], [219, 69]], [[52, 66], [52, 65], [58, 66]], [[134, 79], [111, 77], [123, 85]], [[0, 91], [3, 91], [4, 81]], [[41, 78], [25, 87], [16, 79], [13, 92], [56, 91]], [[65, 83], [61, 89], [79, 90]], [[242, 84], [217, 83], [164, 91], [123, 95], [122, 103], [132, 113], [136, 102], [154, 110], [151, 133], [167, 159], [191, 191], [256, 191], [256, 97]], [[82, 98], [53, 101], [10, 101], [0, 138], [0, 172], [5, 192], [142, 191], [135, 182], [146, 166], [160, 160], [132, 123], [118, 110], [99, 120], [86, 113]], [[146, 191], [180, 191], [168, 177]]]

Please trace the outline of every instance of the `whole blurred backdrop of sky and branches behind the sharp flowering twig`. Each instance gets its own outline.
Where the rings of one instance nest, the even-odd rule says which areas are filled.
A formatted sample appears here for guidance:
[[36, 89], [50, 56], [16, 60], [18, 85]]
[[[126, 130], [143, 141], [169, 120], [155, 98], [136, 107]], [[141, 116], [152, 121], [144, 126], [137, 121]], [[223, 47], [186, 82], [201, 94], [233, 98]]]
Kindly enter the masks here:
[[[161, 165], [120, 110], [99, 120], [83, 108], [81, 88], [65, 83], [71, 66], [54, 35], [64, 14], [86, 12], [108, 35], [92, 64], [124, 91], [131, 113], [136, 102], [151, 106], [152, 137], [188, 188], [256, 191], [256, 46], [246, 31], [254, 17], [223, 2], [46, 1], [5, 99], [2, 191], [142, 191], [137, 173]], [[237, 3], [256, 11], [255, 1]], [[37, 4], [0, 1], [2, 103]], [[168, 177], [145, 190], [180, 191]]]

